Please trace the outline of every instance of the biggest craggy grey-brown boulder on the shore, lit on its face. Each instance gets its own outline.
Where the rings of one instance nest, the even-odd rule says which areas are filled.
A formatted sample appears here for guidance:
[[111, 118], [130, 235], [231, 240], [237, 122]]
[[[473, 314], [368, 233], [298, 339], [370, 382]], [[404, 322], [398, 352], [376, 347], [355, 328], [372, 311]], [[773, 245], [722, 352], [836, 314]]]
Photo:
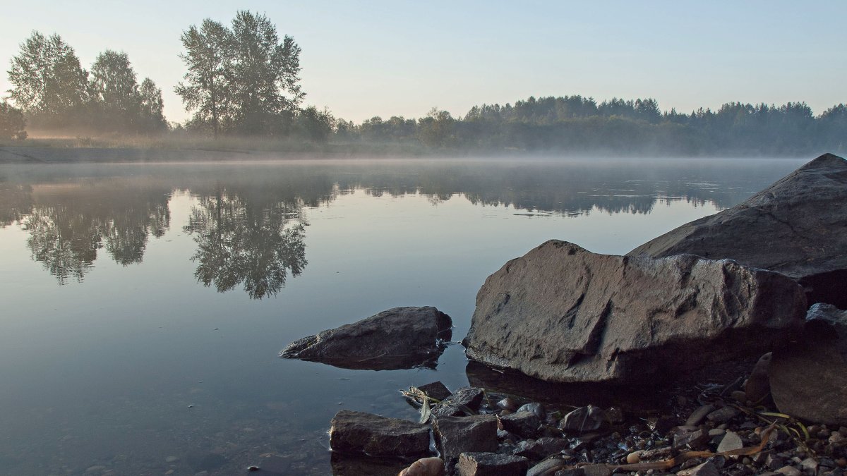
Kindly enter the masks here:
[[782, 274], [554, 240], [485, 280], [463, 344], [473, 360], [540, 379], [643, 384], [761, 355], [804, 315], [803, 289]]

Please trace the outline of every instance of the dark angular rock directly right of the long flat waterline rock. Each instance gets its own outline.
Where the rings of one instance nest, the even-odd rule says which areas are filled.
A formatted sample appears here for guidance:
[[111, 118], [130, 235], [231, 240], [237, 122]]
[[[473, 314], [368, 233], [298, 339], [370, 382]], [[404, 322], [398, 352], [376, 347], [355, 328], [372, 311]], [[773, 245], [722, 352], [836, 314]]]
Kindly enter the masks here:
[[494, 415], [435, 418], [433, 429], [448, 468], [461, 453], [497, 450], [497, 418]]

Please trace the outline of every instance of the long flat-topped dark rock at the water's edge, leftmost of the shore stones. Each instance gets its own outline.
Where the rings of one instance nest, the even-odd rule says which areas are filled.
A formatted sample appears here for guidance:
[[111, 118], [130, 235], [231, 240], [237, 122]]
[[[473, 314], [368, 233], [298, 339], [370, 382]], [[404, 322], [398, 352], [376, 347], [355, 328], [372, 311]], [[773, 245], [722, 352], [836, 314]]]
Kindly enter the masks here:
[[429, 426], [367, 412], [341, 410], [332, 418], [329, 447], [375, 457], [429, 456]]

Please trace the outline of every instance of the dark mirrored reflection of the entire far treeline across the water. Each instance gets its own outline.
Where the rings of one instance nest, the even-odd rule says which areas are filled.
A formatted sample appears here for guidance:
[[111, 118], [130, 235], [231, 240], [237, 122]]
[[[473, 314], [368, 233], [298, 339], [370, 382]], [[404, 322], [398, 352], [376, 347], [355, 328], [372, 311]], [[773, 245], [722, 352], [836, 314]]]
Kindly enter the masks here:
[[[169, 195], [198, 196], [183, 230], [195, 235], [195, 276], [252, 298], [272, 296], [306, 266], [303, 208], [364, 190], [370, 196], [426, 196], [433, 206], [463, 196], [515, 214], [576, 217], [651, 213], [677, 200], [725, 208], [776, 180], [796, 163], [498, 161], [318, 161], [277, 164], [160, 165], [108, 171], [60, 166], [0, 177], [0, 227], [29, 233], [33, 260], [60, 284], [81, 281], [105, 248], [114, 262], [140, 263], [152, 235], [169, 228]], [[3, 170], [0, 170], [2, 173]]]

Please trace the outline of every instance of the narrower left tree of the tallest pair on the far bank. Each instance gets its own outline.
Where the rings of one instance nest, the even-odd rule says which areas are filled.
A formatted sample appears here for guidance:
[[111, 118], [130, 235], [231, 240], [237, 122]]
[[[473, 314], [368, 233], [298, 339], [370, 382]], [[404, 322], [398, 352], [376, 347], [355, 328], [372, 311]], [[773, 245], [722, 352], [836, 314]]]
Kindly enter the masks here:
[[232, 33], [212, 19], [204, 19], [200, 28], [191, 25], [182, 33], [185, 53], [180, 58], [188, 67], [185, 84], [176, 86], [176, 93], [185, 102], [185, 110], [196, 111], [195, 122], [211, 123], [217, 137], [221, 118], [229, 110], [227, 69], [232, 53]]

